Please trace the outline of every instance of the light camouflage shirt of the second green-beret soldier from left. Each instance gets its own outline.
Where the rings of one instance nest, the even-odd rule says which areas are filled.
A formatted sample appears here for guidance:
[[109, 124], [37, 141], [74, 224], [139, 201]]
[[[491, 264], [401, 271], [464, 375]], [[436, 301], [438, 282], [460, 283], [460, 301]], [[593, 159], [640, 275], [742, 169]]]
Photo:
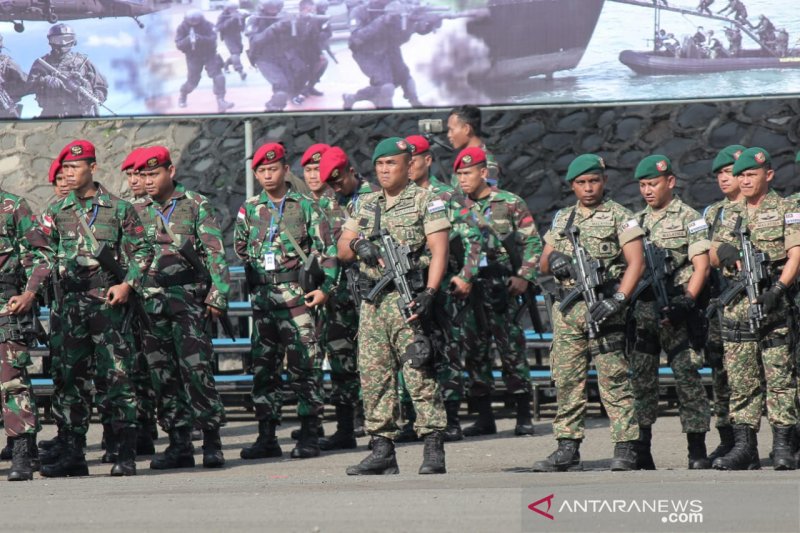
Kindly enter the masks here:
[[[578, 241], [594, 259], [603, 262], [607, 280], [618, 280], [625, 272], [625, 256], [622, 247], [644, 236], [644, 231], [633, 213], [611, 199], [594, 208], [583, 207], [576, 202], [571, 208], [560, 209], [553, 217], [544, 242], [557, 252], [571, 256], [574, 253], [564, 230], [574, 211], [573, 224], [580, 230]], [[574, 285], [573, 280], [561, 282]]]

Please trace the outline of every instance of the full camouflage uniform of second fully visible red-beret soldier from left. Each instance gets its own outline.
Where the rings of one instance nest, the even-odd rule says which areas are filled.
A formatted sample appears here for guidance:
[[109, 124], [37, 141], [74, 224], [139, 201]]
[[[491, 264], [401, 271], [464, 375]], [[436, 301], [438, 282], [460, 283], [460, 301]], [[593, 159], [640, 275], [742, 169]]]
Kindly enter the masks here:
[[[163, 205], [146, 197], [142, 222], [154, 243], [155, 257], [145, 280], [145, 309], [152, 327], [144, 332], [147, 357], [161, 427], [214, 430], [225, 423], [225, 410], [214, 384], [214, 351], [206, 306], [228, 308], [230, 275], [222, 232], [208, 199], [175, 184]], [[166, 228], [169, 228], [169, 231]], [[199, 278], [178, 249], [193, 244], [211, 275]]]

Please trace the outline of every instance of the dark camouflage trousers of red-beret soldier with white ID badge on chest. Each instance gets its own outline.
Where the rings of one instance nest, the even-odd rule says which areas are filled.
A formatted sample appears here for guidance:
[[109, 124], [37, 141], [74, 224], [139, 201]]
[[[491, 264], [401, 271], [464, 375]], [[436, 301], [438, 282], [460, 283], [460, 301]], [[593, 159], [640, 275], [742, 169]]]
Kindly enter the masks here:
[[256, 295], [250, 344], [257, 420], [281, 420], [284, 357], [289, 388], [297, 395], [297, 415], [322, 415], [321, 361], [315, 324], [315, 312], [305, 305], [275, 306], [269, 298]]

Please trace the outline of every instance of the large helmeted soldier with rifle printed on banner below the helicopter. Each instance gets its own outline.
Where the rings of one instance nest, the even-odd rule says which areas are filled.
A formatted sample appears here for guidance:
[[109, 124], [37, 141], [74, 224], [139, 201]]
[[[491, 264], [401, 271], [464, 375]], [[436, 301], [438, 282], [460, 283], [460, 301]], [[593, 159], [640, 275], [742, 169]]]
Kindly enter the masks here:
[[42, 108], [40, 117], [96, 117], [106, 101], [108, 83], [89, 58], [71, 52], [78, 44], [66, 24], [47, 31], [50, 53], [34, 61], [28, 84]]

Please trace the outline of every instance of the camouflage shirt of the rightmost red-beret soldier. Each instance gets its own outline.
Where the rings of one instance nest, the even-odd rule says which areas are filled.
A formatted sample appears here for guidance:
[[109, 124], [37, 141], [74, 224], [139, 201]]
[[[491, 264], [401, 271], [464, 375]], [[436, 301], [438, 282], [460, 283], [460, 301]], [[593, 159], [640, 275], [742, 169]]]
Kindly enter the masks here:
[[[515, 276], [528, 281], [535, 281], [539, 275], [539, 256], [542, 255], [542, 240], [536, 231], [525, 200], [514, 193], [492, 187], [488, 196], [473, 200], [466, 199], [467, 208], [478, 218], [483, 232], [486, 260], [489, 263], [501, 263], [511, 268], [508, 252], [501, 239], [514, 234], [522, 266]], [[492, 230], [484, 228], [489, 223]], [[499, 236], [499, 239], [498, 239]]]

